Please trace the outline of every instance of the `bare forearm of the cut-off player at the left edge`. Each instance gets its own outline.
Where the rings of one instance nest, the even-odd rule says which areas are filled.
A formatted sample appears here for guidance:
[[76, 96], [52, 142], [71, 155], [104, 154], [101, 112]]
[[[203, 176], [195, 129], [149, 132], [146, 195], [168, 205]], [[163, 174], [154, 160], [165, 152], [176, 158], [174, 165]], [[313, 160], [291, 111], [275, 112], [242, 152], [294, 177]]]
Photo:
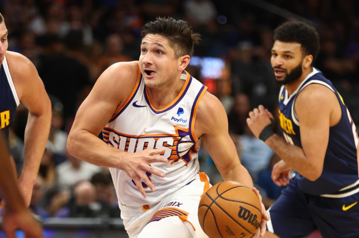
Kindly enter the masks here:
[[19, 180], [34, 184], [51, 125], [51, 107], [42, 115], [29, 113], [25, 128], [24, 165]]

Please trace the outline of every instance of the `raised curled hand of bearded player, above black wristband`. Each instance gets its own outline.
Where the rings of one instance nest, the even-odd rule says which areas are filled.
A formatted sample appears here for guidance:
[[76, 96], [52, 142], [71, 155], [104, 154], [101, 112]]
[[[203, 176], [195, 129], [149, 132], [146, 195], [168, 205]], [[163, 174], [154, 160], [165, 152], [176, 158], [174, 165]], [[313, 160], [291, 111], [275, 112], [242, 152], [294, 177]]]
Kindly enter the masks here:
[[249, 112], [247, 124], [257, 138], [259, 138], [264, 127], [271, 124], [270, 117], [273, 118], [271, 113], [266, 110], [263, 105], [259, 105], [258, 108], [254, 108], [253, 111]]

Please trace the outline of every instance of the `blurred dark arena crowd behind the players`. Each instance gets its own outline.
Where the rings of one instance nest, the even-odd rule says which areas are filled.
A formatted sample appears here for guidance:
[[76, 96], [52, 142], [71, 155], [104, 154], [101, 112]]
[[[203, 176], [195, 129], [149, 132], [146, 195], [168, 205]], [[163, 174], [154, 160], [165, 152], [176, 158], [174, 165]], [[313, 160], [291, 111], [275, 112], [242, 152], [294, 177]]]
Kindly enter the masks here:
[[[50, 136], [30, 206], [42, 218], [119, 217], [108, 169], [71, 156], [66, 140], [77, 108], [99, 75], [113, 63], [138, 60], [141, 27], [158, 16], [186, 20], [202, 35], [187, 71], [223, 103], [238, 155], [267, 207], [280, 194], [281, 188], [270, 179], [271, 167], [280, 158], [252, 135], [246, 118], [259, 104], [278, 114], [279, 86], [269, 60], [273, 30], [288, 20], [284, 16], [301, 16], [316, 27], [321, 49], [314, 66], [334, 83], [354, 122], [359, 123], [359, 3], [355, 0], [274, 0], [271, 5], [260, 0], [0, 3], [9, 31], [8, 50], [31, 59], [52, 102]], [[27, 113], [25, 107], [18, 107], [10, 133], [18, 173]], [[205, 148], [199, 157], [211, 184], [221, 181]]]

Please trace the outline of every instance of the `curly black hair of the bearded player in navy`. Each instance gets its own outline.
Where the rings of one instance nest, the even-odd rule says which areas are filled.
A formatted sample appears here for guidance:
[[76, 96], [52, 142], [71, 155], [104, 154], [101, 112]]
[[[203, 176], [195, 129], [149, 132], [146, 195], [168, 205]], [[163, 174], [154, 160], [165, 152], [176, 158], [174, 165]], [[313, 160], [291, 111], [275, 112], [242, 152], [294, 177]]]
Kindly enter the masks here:
[[318, 32], [314, 27], [302, 21], [288, 21], [278, 26], [274, 30], [273, 39], [299, 43], [304, 55], [313, 55], [313, 62], [318, 56], [320, 49]]

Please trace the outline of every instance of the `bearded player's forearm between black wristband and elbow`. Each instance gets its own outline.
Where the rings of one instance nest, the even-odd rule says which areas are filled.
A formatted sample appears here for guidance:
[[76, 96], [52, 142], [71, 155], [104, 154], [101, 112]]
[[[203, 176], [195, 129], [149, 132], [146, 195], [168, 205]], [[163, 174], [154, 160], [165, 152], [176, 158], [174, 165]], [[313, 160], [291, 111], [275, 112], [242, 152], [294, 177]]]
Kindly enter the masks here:
[[269, 137], [265, 142], [282, 160], [299, 174], [312, 180], [316, 177], [313, 172], [318, 168], [308, 159], [302, 148], [289, 144], [277, 134]]

